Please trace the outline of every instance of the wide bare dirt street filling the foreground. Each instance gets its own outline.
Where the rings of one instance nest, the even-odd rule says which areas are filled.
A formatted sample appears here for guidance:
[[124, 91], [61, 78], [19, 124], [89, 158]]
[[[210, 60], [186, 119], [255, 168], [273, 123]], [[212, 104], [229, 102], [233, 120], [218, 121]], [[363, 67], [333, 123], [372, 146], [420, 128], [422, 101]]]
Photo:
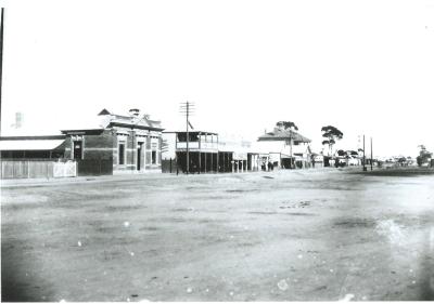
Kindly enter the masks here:
[[434, 300], [434, 175], [3, 186], [3, 301]]

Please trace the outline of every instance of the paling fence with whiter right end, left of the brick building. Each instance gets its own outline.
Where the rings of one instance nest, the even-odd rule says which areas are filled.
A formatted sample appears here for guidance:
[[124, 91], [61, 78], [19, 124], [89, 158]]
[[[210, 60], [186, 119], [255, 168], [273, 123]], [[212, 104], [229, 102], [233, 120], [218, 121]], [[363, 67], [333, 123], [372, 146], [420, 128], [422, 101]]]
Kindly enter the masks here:
[[75, 161], [52, 159], [1, 160], [1, 179], [52, 179], [77, 176]]

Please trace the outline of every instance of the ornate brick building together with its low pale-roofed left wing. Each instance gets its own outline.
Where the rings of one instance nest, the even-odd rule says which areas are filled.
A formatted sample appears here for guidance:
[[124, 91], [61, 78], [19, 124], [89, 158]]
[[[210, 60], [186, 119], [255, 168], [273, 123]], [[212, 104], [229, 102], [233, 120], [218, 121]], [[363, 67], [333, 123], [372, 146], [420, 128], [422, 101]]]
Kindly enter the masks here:
[[103, 109], [86, 125], [64, 129], [61, 135], [0, 137], [1, 158], [74, 160], [78, 175], [159, 172], [163, 130], [139, 109], [129, 115]]

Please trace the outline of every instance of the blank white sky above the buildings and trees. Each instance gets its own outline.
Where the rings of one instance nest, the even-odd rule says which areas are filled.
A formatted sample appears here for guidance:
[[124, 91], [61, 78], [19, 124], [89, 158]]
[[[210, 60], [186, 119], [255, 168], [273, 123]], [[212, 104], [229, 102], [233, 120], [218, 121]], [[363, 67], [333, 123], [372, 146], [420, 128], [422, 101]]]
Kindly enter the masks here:
[[86, 127], [140, 108], [183, 130], [256, 141], [293, 121], [373, 138], [374, 156], [434, 150], [434, 0], [5, 1], [2, 135]]

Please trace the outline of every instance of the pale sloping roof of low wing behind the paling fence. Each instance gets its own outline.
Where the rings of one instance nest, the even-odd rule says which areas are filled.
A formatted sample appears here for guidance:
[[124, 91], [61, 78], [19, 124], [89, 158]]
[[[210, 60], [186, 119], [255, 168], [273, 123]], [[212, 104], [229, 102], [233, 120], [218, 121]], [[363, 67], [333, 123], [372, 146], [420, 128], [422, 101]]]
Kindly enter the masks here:
[[62, 136], [1, 137], [0, 150], [54, 150], [64, 142]]

